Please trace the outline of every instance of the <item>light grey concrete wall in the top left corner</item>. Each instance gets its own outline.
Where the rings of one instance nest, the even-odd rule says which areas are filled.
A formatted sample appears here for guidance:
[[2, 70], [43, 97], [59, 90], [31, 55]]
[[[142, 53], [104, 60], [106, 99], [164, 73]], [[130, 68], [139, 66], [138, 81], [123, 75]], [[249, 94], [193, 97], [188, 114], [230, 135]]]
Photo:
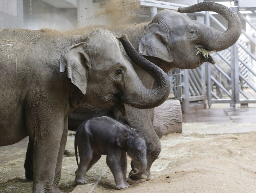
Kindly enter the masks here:
[[22, 26], [23, 0], [0, 0], [0, 29]]

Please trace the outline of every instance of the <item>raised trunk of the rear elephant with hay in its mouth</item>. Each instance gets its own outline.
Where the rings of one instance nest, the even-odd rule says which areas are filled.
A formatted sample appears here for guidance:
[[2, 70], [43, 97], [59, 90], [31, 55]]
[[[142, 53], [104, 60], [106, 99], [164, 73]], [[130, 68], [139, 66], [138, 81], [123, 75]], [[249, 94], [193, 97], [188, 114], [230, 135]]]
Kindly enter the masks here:
[[242, 26], [239, 17], [234, 11], [224, 5], [213, 2], [203, 2], [178, 9], [180, 13], [194, 13], [198, 11], [214, 11], [228, 21], [228, 29], [225, 32], [220, 32], [204, 24], [202, 24], [201, 28], [198, 28], [198, 34], [201, 36], [200, 40], [203, 40], [205, 49], [220, 51], [229, 48], [238, 40]]

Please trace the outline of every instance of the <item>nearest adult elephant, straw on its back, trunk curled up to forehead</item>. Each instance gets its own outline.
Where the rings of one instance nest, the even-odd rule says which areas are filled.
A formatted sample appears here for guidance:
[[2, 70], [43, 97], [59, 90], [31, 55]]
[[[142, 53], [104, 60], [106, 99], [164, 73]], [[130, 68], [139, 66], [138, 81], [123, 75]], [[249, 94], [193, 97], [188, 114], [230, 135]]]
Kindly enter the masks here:
[[154, 89], [142, 84], [122, 44], [107, 30], [81, 37], [15, 29], [0, 35], [0, 146], [26, 136], [33, 140], [33, 192], [60, 192], [68, 114], [77, 106], [123, 109], [124, 102], [152, 108], [169, 95], [164, 71], [124, 35], [119, 40], [128, 55], [156, 78]]

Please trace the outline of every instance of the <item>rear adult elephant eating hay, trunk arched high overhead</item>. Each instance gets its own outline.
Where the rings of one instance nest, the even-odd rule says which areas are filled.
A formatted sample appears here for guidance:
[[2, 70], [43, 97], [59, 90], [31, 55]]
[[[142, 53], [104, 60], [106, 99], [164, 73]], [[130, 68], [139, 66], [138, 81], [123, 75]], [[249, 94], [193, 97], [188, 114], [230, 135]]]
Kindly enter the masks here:
[[[181, 13], [198, 11], [214, 11], [222, 15], [228, 21], [228, 29], [225, 32], [217, 31], [197, 21], [189, 19]], [[211, 57], [205, 58], [197, 54], [197, 48], [208, 51], [220, 51], [232, 46], [241, 33], [241, 22], [238, 16], [226, 6], [213, 2], [198, 3], [193, 6], [179, 8], [177, 13], [171, 10], [160, 11], [151, 22], [135, 26], [120, 26], [109, 28], [111, 32], [119, 36], [127, 34], [134, 48], [145, 58], [162, 68], [165, 72], [171, 68], [196, 68], [203, 62], [214, 63]], [[83, 33], [84, 28], [80, 31]], [[155, 80], [133, 63], [134, 69], [147, 88], [154, 88]], [[68, 128], [75, 130], [84, 120], [110, 116], [139, 130], [147, 143], [147, 169], [142, 178], [150, 179], [150, 168], [161, 151], [160, 140], [154, 131], [154, 109], [142, 110], [125, 105], [126, 116], [123, 116], [116, 108], [103, 109], [85, 104], [79, 107], [69, 116]], [[28, 149], [31, 149], [28, 145]], [[27, 151], [27, 159], [32, 151]], [[29, 161], [25, 164], [27, 177], [32, 176], [29, 170]], [[132, 168], [140, 168], [136, 160], [132, 160]], [[136, 178], [136, 176], [131, 176]]]

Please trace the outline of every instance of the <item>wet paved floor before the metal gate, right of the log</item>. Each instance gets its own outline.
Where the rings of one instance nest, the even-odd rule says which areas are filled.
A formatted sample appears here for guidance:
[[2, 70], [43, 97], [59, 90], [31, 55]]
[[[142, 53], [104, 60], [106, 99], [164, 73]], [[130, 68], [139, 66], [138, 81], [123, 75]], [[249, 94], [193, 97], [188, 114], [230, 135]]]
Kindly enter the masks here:
[[[189, 127], [186, 124], [190, 124]], [[183, 133], [223, 134], [250, 131], [256, 131], [254, 107], [212, 108], [183, 114]]]

